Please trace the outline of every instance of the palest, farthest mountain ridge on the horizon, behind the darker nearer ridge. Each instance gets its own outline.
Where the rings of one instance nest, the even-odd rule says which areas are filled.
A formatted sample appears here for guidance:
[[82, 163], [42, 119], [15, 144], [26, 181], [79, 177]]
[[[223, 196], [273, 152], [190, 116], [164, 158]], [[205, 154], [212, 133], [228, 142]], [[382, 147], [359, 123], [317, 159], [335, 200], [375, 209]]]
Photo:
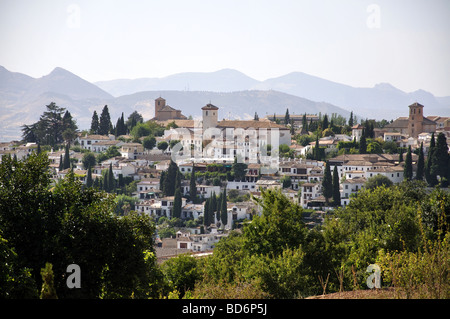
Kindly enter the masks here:
[[364, 117], [379, 120], [405, 116], [407, 107], [414, 102], [423, 104], [427, 115], [450, 114], [450, 97], [435, 97], [423, 90], [406, 93], [388, 83], [380, 83], [373, 88], [355, 88], [301, 72], [258, 81], [239, 71], [224, 69], [210, 73], [179, 73], [163, 78], [122, 79], [95, 84], [114, 96], [157, 90], [213, 92], [275, 90], [311, 101], [326, 102]]

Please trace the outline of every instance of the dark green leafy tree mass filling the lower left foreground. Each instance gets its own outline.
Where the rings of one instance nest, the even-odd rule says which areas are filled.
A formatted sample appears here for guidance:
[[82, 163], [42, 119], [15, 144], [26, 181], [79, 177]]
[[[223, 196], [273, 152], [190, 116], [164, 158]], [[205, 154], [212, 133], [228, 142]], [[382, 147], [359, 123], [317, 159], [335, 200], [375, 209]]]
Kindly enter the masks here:
[[[59, 298], [158, 297], [154, 225], [146, 216], [118, 217], [115, 206], [112, 195], [83, 188], [73, 174], [52, 186], [45, 155], [4, 157], [0, 296], [38, 297], [50, 263]], [[70, 264], [80, 266], [80, 289], [66, 286]]]

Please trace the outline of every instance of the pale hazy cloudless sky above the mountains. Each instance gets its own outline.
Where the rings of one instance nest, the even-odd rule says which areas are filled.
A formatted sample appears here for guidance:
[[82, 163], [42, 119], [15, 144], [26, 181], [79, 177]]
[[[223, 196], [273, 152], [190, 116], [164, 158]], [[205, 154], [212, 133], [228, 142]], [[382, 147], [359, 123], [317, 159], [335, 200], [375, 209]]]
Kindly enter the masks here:
[[450, 96], [450, 1], [0, 0], [0, 65], [88, 81], [237, 69]]

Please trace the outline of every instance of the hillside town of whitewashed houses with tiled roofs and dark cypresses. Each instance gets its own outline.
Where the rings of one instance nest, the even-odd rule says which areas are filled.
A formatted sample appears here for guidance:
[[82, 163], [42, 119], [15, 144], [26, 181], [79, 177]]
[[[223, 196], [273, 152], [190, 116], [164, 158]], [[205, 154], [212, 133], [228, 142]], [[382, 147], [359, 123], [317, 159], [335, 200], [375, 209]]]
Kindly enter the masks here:
[[[58, 183], [73, 173], [88, 187], [116, 193], [118, 214], [152, 216], [158, 223], [156, 251], [164, 260], [186, 251], [211, 252], [230, 230], [261, 214], [257, 199], [267, 189], [279, 189], [300, 205], [312, 228], [377, 176], [392, 184], [425, 179], [438, 136], [447, 150], [450, 144], [450, 117], [425, 117], [419, 103], [383, 127], [375, 120], [356, 123], [335, 115], [290, 116], [288, 110], [219, 121], [222, 110], [211, 103], [201, 111], [201, 120], [188, 119], [160, 97], [155, 117], [146, 122], [158, 133], [138, 135], [137, 129], [123, 128], [123, 114], [115, 132], [100, 132], [95, 114], [90, 130], [74, 132], [61, 149], [45, 150], [53, 179]], [[144, 130], [145, 123], [139, 125]], [[41, 151], [36, 141], [0, 143], [0, 159], [21, 160]], [[169, 191], [165, 179], [173, 167]], [[443, 183], [448, 176], [436, 179]]]

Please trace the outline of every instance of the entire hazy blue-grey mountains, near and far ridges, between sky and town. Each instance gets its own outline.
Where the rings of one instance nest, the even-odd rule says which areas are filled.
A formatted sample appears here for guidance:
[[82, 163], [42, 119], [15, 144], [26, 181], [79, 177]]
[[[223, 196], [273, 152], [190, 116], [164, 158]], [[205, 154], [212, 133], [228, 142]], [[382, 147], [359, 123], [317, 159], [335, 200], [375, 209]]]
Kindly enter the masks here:
[[93, 111], [100, 113], [104, 105], [113, 124], [122, 112], [128, 116], [135, 110], [150, 119], [159, 96], [194, 118], [210, 102], [220, 108], [220, 119], [249, 119], [255, 112], [259, 117], [284, 114], [288, 108], [290, 114], [337, 113], [348, 118], [353, 111], [359, 118], [390, 120], [407, 115], [407, 106], [416, 101], [425, 106], [426, 115], [450, 115], [450, 97], [405, 93], [389, 84], [354, 88], [299, 72], [258, 81], [224, 69], [93, 84], [62, 68], [32, 78], [0, 66], [0, 141], [20, 139], [20, 126], [36, 122], [50, 102], [67, 108], [79, 128], [87, 129]]

